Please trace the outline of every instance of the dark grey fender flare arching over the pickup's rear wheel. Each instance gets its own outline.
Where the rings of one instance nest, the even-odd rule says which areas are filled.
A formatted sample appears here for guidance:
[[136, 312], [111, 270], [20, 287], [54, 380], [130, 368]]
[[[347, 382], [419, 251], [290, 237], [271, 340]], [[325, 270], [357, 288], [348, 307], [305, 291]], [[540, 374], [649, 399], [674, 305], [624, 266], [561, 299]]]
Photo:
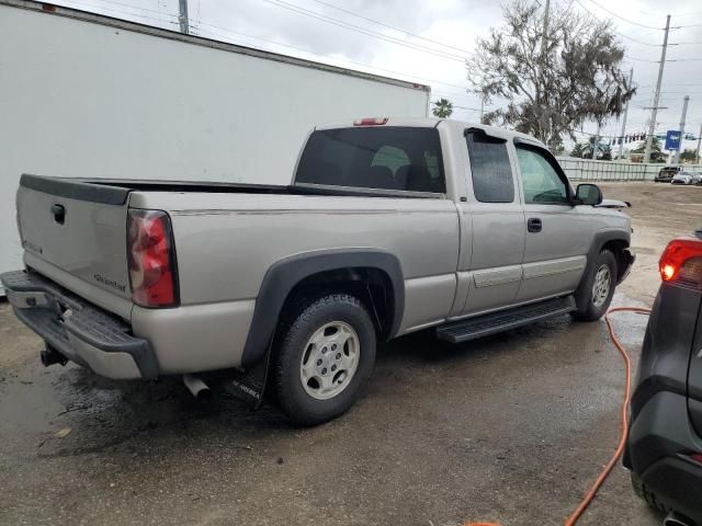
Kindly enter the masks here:
[[268, 358], [281, 311], [291, 290], [314, 274], [342, 268], [377, 268], [390, 281], [393, 311], [388, 338], [399, 330], [405, 312], [405, 279], [397, 256], [376, 249], [338, 249], [306, 252], [275, 262], [261, 282], [249, 334], [241, 355], [241, 366], [252, 367]]

